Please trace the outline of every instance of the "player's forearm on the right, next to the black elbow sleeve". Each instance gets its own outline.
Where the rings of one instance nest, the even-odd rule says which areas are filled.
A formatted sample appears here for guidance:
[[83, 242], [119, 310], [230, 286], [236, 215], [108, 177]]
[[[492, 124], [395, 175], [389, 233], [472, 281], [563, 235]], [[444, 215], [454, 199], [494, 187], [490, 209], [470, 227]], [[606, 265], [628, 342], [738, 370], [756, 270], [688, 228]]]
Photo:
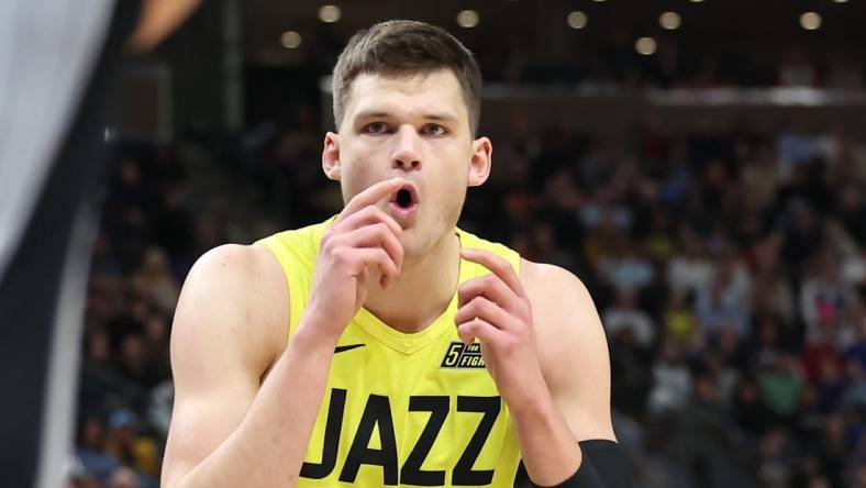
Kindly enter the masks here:
[[536, 398], [532, 404], [511, 411], [520, 454], [534, 484], [556, 486], [580, 467], [582, 455], [549, 395]]

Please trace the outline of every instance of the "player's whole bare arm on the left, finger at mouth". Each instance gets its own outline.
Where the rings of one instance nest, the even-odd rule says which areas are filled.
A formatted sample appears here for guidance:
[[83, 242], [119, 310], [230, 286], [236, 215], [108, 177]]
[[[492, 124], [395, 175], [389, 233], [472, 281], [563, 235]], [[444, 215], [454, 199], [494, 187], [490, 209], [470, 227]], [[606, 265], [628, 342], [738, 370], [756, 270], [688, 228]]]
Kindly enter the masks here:
[[365, 298], [402, 262], [400, 226], [358, 193], [321, 242], [312, 292], [286, 344], [286, 279], [270, 252], [222, 246], [193, 267], [171, 331], [175, 409], [162, 486], [293, 486], [324, 396], [334, 346]]

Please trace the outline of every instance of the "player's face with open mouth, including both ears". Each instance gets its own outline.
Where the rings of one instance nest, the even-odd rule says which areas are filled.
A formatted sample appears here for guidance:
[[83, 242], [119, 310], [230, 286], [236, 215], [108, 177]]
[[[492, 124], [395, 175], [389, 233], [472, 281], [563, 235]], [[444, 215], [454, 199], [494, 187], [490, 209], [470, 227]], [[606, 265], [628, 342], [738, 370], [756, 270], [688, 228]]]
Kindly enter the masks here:
[[340, 133], [325, 137], [322, 164], [329, 178], [341, 181], [344, 202], [378, 181], [408, 181], [378, 207], [403, 228], [411, 258], [454, 229], [466, 188], [487, 179], [490, 153], [487, 137], [473, 141], [459, 81], [442, 69], [358, 76]]

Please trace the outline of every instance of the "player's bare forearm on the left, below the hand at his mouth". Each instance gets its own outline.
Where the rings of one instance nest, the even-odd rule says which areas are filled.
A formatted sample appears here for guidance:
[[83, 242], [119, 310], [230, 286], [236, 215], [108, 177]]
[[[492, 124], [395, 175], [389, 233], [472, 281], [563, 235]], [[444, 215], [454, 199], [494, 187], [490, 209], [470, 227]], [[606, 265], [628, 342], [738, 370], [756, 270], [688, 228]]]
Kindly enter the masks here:
[[336, 343], [309, 325], [301, 322], [237, 429], [173, 488], [295, 485]]

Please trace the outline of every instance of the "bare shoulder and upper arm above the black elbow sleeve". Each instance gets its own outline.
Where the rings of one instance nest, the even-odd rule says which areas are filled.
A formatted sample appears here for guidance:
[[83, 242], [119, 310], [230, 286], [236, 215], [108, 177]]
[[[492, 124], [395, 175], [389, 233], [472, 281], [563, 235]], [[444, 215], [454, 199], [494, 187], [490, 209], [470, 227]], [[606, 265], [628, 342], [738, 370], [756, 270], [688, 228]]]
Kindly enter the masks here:
[[578, 440], [613, 440], [610, 355], [589, 290], [570, 271], [521, 262], [544, 379]]

